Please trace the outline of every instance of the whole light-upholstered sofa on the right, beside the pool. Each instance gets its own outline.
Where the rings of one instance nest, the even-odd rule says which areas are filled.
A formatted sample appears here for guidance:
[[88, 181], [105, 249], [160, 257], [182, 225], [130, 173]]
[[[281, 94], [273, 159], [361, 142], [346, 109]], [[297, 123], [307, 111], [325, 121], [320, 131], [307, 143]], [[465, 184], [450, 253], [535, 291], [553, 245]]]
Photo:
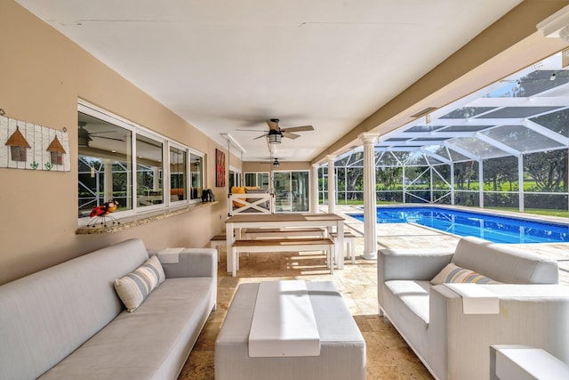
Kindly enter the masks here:
[[[471, 279], [499, 305], [495, 313], [465, 313], [463, 303], [472, 299], [463, 299], [452, 285], [431, 284], [436, 277], [467, 277], [460, 269], [439, 274], [451, 269], [449, 263], [485, 276]], [[557, 282], [556, 261], [471, 237], [453, 252], [378, 253], [380, 311], [438, 379], [489, 378], [493, 344], [525, 344], [569, 362], [569, 287]]]

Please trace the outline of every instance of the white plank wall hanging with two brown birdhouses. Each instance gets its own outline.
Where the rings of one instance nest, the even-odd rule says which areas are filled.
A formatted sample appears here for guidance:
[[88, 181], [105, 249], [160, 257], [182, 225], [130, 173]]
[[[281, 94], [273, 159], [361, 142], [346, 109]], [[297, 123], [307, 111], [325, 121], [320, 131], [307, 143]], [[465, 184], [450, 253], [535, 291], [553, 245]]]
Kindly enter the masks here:
[[71, 170], [69, 137], [67, 131], [59, 131], [23, 120], [5, 117], [0, 112], [0, 168]]

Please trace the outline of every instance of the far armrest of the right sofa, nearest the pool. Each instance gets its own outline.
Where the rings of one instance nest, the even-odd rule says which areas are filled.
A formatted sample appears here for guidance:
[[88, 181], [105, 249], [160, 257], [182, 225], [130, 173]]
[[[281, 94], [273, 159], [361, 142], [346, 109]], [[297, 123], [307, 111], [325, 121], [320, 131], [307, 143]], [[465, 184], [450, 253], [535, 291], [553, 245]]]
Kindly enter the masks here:
[[378, 284], [391, 279], [430, 280], [451, 262], [453, 250], [380, 249]]

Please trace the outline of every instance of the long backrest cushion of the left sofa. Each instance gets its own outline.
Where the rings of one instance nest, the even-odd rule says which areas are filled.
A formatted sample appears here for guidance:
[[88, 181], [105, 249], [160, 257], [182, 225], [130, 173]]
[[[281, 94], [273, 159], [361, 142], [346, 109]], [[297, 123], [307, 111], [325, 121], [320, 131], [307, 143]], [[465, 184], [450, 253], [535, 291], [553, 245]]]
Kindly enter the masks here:
[[36, 378], [124, 311], [113, 281], [148, 260], [126, 240], [0, 287], [0, 378]]

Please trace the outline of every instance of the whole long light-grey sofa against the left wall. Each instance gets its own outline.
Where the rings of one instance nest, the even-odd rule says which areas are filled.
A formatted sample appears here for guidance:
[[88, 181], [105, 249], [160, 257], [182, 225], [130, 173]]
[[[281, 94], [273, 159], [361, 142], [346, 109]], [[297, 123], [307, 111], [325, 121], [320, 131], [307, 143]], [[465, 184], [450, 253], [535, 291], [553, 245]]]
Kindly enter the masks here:
[[216, 251], [171, 255], [126, 311], [115, 280], [148, 259], [131, 239], [1, 286], [0, 379], [175, 379], [215, 307]]

